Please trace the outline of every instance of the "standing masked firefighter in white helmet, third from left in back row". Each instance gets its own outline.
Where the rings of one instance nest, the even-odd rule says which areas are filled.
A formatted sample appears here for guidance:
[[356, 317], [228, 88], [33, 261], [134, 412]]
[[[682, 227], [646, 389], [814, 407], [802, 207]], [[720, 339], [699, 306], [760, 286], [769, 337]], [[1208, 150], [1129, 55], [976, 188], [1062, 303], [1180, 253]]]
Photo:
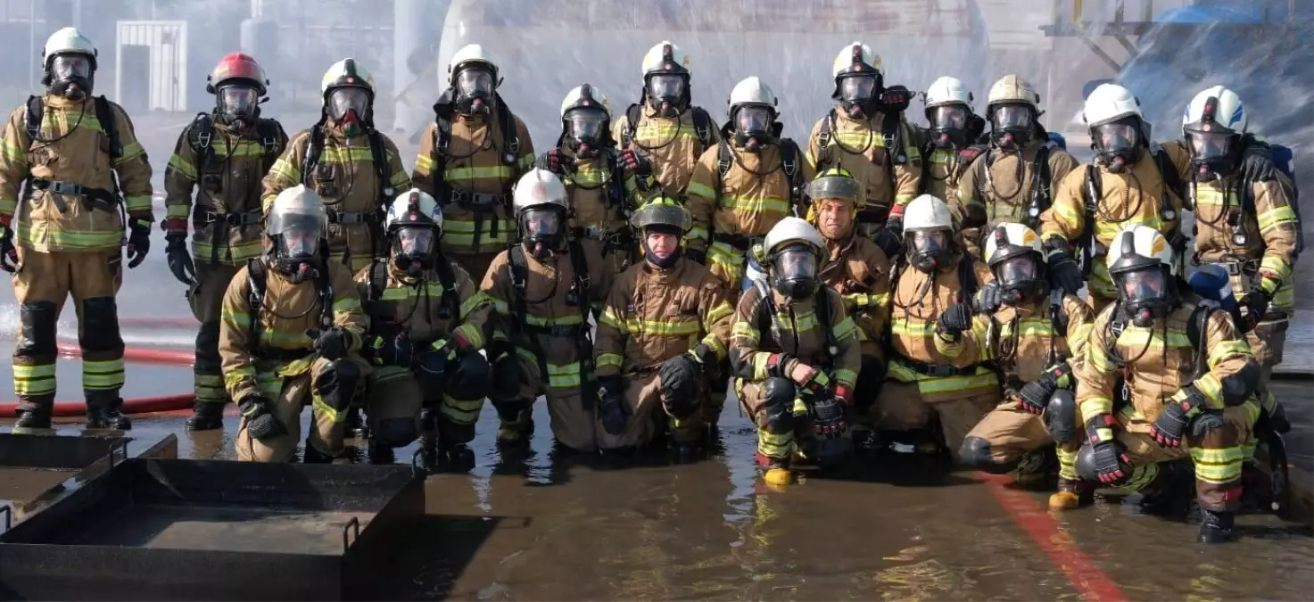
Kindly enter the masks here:
[[384, 213], [410, 177], [397, 145], [374, 129], [374, 78], [356, 59], [328, 67], [319, 83], [319, 122], [292, 137], [264, 176], [264, 206], [305, 184], [328, 212], [328, 256], [355, 273], [386, 255]]

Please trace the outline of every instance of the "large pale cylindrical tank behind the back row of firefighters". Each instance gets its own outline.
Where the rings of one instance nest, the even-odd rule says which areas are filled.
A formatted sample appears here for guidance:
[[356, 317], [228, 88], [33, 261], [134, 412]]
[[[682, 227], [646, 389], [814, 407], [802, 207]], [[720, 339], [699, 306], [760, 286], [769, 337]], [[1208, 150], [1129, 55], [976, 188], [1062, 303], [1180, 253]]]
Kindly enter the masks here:
[[976, 0], [452, 0], [440, 88], [452, 54], [484, 45], [502, 68], [501, 93], [543, 147], [558, 134], [561, 97], [583, 81], [600, 85], [616, 113], [637, 101], [643, 57], [662, 39], [689, 54], [694, 103], [714, 118], [725, 118], [735, 83], [757, 75], [798, 139], [828, 110], [830, 64], [853, 41], [882, 55], [887, 85], [920, 91], [957, 75], [983, 97], [989, 76]]

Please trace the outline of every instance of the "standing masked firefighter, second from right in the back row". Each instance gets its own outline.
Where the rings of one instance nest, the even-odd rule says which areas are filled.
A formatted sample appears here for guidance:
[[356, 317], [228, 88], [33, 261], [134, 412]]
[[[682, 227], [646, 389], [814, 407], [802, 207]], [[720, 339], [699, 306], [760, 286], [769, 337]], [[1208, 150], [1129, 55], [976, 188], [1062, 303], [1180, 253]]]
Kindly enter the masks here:
[[[1150, 141], [1141, 101], [1127, 88], [1100, 85], [1085, 99], [1081, 114], [1095, 158], [1059, 181], [1054, 205], [1041, 216], [1041, 239], [1051, 283], [1076, 293], [1085, 281], [1091, 306], [1099, 313], [1118, 297], [1104, 260], [1118, 229], [1155, 227], [1181, 259], [1187, 238], [1179, 170], [1188, 159], [1181, 145]], [[1084, 267], [1077, 264], [1079, 252]]]

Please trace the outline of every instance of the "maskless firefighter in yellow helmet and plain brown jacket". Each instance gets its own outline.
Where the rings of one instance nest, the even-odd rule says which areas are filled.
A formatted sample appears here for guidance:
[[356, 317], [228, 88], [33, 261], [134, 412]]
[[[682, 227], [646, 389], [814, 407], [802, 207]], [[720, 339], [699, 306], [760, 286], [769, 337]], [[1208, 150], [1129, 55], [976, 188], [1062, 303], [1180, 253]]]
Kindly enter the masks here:
[[853, 440], [859, 450], [876, 447], [871, 430], [871, 404], [886, 377], [883, 309], [890, 301], [890, 258], [874, 242], [858, 235], [862, 184], [848, 170], [823, 171], [811, 184], [808, 221], [825, 241], [827, 252], [817, 277], [844, 300], [845, 313], [858, 327], [862, 369], [854, 388]]

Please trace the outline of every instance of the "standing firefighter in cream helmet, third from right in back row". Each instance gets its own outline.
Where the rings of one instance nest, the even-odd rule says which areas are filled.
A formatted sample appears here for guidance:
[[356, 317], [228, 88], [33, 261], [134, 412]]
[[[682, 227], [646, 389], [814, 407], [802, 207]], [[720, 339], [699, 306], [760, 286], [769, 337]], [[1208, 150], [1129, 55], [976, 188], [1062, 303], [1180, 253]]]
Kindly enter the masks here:
[[986, 103], [989, 149], [963, 170], [958, 195], [949, 200], [976, 260], [982, 235], [1003, 222], [1038, 230], [1041, 214], [1059, 197], [1059, 183], [1077, 166], [1041, 127], [1041, 95], [1029, 81], [1005, 75]]

